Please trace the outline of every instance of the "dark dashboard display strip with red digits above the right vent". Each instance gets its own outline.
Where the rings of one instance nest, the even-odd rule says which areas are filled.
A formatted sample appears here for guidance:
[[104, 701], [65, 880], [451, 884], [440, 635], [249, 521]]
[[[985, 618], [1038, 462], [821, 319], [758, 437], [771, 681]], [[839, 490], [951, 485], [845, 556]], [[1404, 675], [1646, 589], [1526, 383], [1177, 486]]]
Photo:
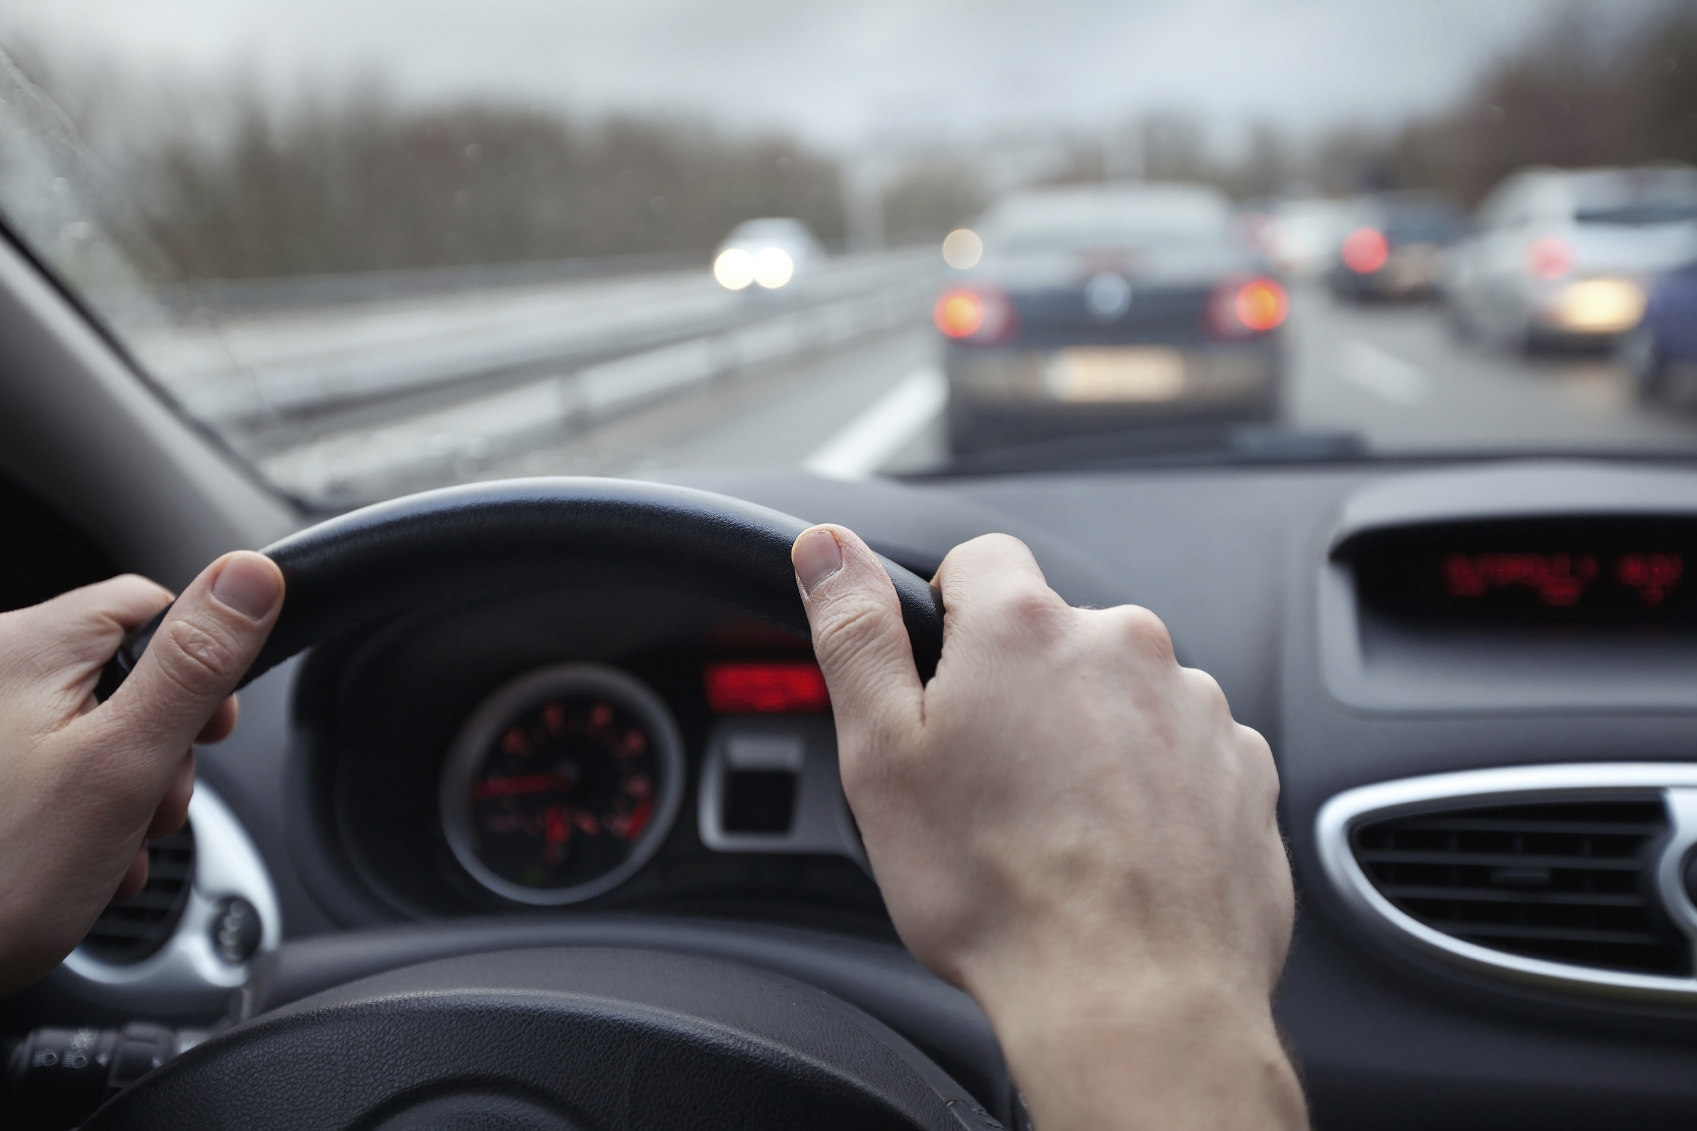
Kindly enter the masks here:
[[1697, 518], [1539, 518], [1366, 532], [1336, 557], [1398, 620], [1697, 628]]

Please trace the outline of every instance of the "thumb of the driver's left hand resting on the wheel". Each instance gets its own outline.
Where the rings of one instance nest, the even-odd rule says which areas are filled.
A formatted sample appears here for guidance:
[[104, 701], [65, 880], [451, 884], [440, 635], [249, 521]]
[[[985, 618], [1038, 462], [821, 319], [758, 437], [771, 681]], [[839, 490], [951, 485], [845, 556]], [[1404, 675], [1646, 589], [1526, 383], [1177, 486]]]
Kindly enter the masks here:
[[283, 574], [263, 554], [226, 554], [195, 577], [136, 671], [97, 713], [175, 768], [246, 674], [283, 606]]

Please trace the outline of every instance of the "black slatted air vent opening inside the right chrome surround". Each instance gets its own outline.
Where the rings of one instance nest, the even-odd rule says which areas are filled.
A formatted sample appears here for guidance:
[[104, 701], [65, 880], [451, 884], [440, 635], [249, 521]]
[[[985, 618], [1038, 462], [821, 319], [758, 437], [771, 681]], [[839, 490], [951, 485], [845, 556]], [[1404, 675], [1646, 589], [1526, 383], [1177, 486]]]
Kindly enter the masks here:
[[1512, 954], [1689, 975], [1692, 948], [1653, 895], [1660, 800], [1466, 807], [1366, 822], [1351, 849], [1407, 915]]

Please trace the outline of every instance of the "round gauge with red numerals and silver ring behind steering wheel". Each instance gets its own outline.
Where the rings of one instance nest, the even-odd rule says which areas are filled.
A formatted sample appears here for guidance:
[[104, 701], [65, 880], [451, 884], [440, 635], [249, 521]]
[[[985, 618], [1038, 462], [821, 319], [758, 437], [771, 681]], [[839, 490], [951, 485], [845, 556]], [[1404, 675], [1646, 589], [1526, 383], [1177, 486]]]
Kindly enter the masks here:
[[684, 786], [665, 703], [601, 664], [531, 672], [465, 722], [441, 776], [443, 830], [490, 892], [575, 903], [636, 873]]

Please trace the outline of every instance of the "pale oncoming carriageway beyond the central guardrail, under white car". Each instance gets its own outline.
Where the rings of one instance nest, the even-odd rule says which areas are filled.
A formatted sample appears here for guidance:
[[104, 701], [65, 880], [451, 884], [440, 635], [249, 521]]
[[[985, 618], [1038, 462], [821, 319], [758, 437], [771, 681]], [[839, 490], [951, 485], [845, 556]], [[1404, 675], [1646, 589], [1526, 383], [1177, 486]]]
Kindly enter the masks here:
[[[239, 443], [299, 443], [879, 290], [933, 280], [928, 251], [843, 256], [777, 294], [731, 294], [703, 272], [621, 275], [504, 292], [266, 311], [132, 340], [195, 418]], [[268, 442], [265, 436], [275, 440]]]

